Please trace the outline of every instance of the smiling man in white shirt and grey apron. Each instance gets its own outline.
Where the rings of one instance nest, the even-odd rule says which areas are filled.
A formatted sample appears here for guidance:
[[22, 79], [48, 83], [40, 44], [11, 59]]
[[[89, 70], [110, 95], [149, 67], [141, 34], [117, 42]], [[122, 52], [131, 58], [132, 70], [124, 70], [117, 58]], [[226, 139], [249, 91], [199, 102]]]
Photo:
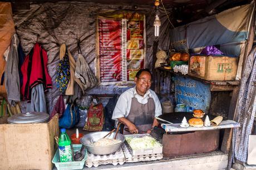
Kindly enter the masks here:
[[150, 89], [151, 77], [149, 69], [140, 69], [134, 79], [136, 86], [122, 93], [116, 103], [112, 119], [125, 125], [124, 134], [150, 133], [159, 125], [155, 117], [162, 114], [162, 108]]

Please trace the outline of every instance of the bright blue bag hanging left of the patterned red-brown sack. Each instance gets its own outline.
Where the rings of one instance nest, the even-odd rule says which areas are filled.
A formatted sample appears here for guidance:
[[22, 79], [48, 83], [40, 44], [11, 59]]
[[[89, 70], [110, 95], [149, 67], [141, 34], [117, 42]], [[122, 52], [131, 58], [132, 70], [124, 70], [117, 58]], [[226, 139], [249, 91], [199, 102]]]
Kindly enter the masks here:
[[79, 122], [79, 109], [74, 104], [68, 104], [62, 117], [58, 120], [58, 126], [70, 129]]

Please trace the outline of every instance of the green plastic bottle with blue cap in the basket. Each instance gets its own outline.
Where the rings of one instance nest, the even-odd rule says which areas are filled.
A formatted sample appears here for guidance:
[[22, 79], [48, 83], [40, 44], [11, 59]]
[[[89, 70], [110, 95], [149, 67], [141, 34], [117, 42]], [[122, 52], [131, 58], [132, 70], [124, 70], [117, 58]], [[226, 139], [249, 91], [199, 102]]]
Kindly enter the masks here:
[[60, 153], [60, 162], [72, 161], [71, 140], [66, 133], [66, 129], [61, 129], [60, 137], [58, 138], [58, 151]]

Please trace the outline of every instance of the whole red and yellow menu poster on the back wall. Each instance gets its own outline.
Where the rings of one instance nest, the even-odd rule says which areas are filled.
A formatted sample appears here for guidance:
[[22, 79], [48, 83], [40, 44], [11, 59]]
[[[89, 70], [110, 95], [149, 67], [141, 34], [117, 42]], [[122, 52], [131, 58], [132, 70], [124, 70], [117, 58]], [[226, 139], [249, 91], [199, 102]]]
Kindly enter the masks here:
[[97, 18], [96, 73], [102, 85], [133, 82], [144, 68], [145, 16], [113, 14]]

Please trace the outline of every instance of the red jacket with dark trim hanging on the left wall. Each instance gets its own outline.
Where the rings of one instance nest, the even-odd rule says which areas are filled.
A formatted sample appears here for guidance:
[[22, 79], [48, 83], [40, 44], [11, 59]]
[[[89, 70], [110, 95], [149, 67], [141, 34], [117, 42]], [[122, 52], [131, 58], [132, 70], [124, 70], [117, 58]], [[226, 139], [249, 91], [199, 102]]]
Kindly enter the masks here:
[[43, 84], [45, 91], [52, 88], [52, 79], [47, 69], [47, 53], [41, 44], [36, 43], [26, 56], [21, 66], [23, 84], [21, 88], [23, 100], [30, 101], [31, 89], [37, 84]]

